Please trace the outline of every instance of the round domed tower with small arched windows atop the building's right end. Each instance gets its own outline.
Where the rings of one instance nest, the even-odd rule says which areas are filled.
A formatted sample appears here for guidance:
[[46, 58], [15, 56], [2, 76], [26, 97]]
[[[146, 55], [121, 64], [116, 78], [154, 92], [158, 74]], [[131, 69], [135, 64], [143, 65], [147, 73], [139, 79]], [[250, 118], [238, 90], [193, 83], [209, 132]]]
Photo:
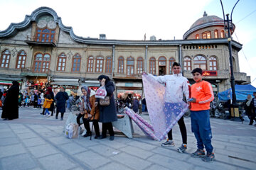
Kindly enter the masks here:
[[[233, 24], [233, 23], [232, 23]], [[233, 24], [232, 34], [235, 30]], [[191, 28], [183, 35], [183, 39], [213, 39], [226, 38], [223, 19], [218, 16], [208, 16], [206, 11], [203, 17], [192, 24]]]

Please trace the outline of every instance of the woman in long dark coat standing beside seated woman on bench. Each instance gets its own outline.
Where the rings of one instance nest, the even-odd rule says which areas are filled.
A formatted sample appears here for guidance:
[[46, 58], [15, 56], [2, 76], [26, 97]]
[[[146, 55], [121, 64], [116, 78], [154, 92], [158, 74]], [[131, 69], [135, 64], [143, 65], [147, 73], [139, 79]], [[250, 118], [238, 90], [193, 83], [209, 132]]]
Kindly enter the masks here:
[[[100, 105], [100, 122], [102, 123], [102, 135], [97, 139], [101, 140], [107, 137], [107, 130], [110, 132], [110, 140], [114, 140], [114, 130], [112, 122], [117, 121], [117, 113], [114, 101], [114, 84], [110, 81], [110, 78], [101, 75], [97, 78], [100, 81], [101, 86], [105, 86], [107, 91], [107, 96], [110, 96], [110, 105], [109, 106], [101, 106]], [[97, 103], [99, 103], [100, 99], [97, 99]]]

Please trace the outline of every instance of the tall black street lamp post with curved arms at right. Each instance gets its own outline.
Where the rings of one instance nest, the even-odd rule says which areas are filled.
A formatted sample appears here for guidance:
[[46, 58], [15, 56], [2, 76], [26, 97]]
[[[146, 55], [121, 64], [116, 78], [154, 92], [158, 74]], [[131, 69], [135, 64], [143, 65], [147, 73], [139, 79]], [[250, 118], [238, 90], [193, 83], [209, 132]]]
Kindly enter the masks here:
[[[239, 1], [239, 0], [238, 0]], [[238, 4], [238, 1], [235, 3]], [[220, 0], [221, 7], [223, 9], [223, 3]], [[235, 8], [233, 7], [231, 11], [231, 17], [229, 18], [229, 14], [226, 14], [226, 20], [225, 20], [225, 14], [224, 14], [224, 9], [223, 9], [223, 19], [224, 19], [224, 27], [225, 30], [228, 30], [228, 50], [229, 50], [229, 55], [230, 55], [230, 70], [231, 70], [231, 76], [230, 76], [230, 84], [231, 84], [231, 89], [232, 89], [232, 105], [237, 106], [238, 103], [236, 102], [236, 96], [235, 96], [235, 77], [234, 77], [234, 71], [233, 71], [233, 57], [232, 57], [232, 47], [231, 47], [231, 34], [230, 34], [230, 29], [233, 29], [233, 24], [232, 24], [232, 13]]]

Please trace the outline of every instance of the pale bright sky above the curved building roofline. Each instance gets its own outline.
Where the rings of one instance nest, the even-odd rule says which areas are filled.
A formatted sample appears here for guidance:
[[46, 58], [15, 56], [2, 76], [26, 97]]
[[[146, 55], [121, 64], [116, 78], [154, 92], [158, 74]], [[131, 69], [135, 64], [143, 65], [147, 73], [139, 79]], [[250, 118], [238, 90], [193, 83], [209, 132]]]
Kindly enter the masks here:
[[[223, 0], [225, 14], [231, 13], [237, 0]], [[75, 35], [84, 38], [182, 40], [183, 34], [206, 11], [208, 16], [223, 18], [219, 0], [0, 0], [0, 30], [19, 23], [41, 6], [48, 6], [71, 26]], [[240, 72], [251, 77], [256, 87], [256, 1], [240, 0], [233, 11], [235, 33], [240, 42]]]

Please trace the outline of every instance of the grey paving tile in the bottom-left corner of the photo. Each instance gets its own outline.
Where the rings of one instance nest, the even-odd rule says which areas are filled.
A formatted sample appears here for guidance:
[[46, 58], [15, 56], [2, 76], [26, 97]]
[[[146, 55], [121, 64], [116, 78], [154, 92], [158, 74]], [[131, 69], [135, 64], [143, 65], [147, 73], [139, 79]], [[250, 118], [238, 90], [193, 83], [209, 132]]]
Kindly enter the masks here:
[[2, 169], [5, 170], [26, 170], [36, 168], [37, 166], [36, 162], [34, 162], [28, 154], [18, 154], [13, 157], [5, 157], [0, 159], [0, 162]]

